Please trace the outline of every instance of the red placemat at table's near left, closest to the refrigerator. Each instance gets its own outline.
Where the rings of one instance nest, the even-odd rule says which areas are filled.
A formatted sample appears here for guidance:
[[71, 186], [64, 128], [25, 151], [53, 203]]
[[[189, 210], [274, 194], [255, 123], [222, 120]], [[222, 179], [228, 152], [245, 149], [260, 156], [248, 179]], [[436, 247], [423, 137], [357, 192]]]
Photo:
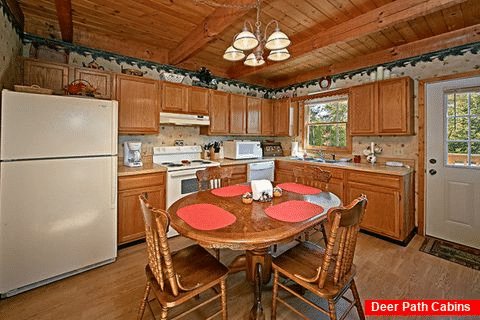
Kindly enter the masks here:
[[198, 230], [215, 230], [231, 225], [237, 218], [213, 204], [192, 204], [178, 209], [177, 215]]

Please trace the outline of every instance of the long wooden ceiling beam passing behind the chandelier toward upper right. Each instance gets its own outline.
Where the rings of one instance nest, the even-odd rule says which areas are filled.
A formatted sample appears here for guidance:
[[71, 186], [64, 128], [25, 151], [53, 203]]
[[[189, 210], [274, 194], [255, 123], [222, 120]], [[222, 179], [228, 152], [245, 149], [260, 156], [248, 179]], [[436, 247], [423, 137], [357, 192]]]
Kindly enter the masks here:
[[[292, 58], [295, 59], [311, 51], [338, 42], [357, 39], [392, 27], [398, 23], [410, 21], [466, 1], [467, 0], [402, 0], [390, 2], [330, 29], [318, 32], [307, 39], [303, 39], [301, 42], [295, 42], [294, 40], [288, 50]], [[243, 78], [273, 66], [275, 66], [275, 64], [272, 63], [267, 63], [256, 68], [236, 65], [230, 68], [227, 74], [230, 78]]]

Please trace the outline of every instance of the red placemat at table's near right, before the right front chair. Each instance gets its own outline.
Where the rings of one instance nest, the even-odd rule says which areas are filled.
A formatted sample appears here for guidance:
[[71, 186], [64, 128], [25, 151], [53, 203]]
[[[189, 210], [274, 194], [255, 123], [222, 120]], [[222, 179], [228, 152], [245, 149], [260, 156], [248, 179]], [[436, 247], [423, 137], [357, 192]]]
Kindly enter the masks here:
[[299, 200], [282, 202], [265, 209], [267, 216], [286, 222], [298, 222], [323, 212], [319, 205]]

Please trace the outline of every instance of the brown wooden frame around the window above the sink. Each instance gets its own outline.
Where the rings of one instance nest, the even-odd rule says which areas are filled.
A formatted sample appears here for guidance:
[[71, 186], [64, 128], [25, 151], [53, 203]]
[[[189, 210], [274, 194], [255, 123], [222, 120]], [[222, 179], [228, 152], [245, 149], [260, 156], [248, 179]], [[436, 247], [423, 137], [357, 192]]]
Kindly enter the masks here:
[[[347, 99], [347, 121], [346, 122], [324, 122], [324, 124], [335, 124], [335, 123], [345, 123], [346, 124], [346, 146], [345, 147], [328, 147], [328, 146], [311, 146], [308, 144], [308, 129], [309, 126], [315, 125], [308, 122], [310, 108], [307, 105], [311, 100], [318, 100], [318, 99], [325, 99], [325, 98], [335, 98], [338, 97], [340, 99]], [[340, 152], [340, 153], [349, 153], [352, 151], [352, 136], [350, 134], [350, 94], [348, 89], [340, 89], [325, 93], [319, 93], [308, 97], [303, 97], [303, 105], [304, 105], [304, 113], [303, 113], [303, 146], [307, 151], [311, 152]]]

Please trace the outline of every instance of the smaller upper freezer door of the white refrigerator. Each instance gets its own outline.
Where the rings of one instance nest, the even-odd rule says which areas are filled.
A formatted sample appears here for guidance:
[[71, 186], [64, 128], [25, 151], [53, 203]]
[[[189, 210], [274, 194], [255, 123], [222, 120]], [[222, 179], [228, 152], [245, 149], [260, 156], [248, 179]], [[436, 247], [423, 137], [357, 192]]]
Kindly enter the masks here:
[[2, 91], [1, 159], [117, 154], [117, 102]]

